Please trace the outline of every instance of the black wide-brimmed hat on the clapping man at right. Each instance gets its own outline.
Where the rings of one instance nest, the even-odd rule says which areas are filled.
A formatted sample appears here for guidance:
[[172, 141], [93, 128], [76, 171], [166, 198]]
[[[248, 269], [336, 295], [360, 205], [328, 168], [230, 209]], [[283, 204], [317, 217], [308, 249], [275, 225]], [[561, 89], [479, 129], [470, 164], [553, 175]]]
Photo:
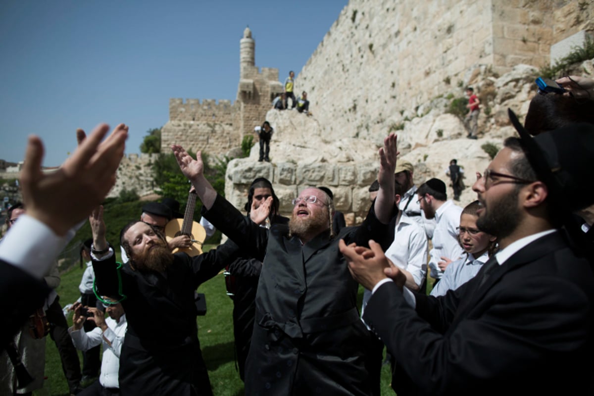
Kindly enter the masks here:
[[594, 204], [594, 125], [574, 123], [532, 137], [511, 109], [508, 115], [527, 160], [549, 190], [549, 202], [571, 212]]

